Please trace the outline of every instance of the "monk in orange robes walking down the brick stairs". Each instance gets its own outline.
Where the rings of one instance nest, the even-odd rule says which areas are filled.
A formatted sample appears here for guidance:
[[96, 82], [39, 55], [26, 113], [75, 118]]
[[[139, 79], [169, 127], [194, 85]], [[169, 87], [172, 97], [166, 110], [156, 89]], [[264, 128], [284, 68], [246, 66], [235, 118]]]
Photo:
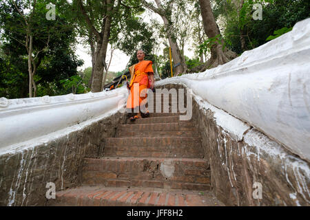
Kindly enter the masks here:
[[[147, 104], [147, 89], [154, 88], [154, 71], [152, 61], [145, 61], [145, 52], [138, 50], [136, 52], [138, 63], [132, 65], [130, 69], [130, 96], [127, 100], [127, 112], [137, 113], [130, 120], [135, 121], [138, 118], [149, 116], [149, 111], [145, 107]], [[143, 109], [143, 111], [141, 111]]]

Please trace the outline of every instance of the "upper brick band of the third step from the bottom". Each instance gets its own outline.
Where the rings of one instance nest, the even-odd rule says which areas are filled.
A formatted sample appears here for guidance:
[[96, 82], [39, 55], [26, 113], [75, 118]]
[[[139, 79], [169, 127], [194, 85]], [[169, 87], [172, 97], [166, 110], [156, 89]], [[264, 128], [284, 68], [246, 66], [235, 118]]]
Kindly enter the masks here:
[[179, 146], [201, 148], [201, 140], [197, 137], [107, 137], [105, 138], [105, 146]]

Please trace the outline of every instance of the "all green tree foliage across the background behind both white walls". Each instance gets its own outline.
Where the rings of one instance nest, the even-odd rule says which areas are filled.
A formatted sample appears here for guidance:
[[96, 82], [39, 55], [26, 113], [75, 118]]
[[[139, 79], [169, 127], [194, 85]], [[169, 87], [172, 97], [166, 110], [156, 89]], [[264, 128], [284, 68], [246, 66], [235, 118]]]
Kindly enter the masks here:
[[[196, 50], [196, 56], [207, 56], [216, 42], [223, 44], [223, 49], [229, 47], [237, 54], [258, 47], [289, 32], [291, 28], [283, 27], [293, 27], [296, 22], [309, 17], [310, 8], [308, 0], [245, 0], [242, 5], [240, 0], [211, 0], [214, 17], [223, 37], [218, 35], [206, 39], [198, 1], [176, 0], [175, 8], [167, 8], [170, 1], [162, 0], [168, 22], [175, 24], [170, 33], [172, 39], [183, 50], [188, 37], [191, 37], [195, 47], [192, 50]], [[12, 2], [0, 1], [0, 96], [25, 98], [28, 97], [29, 84], [28, 52], [24, 46], [27, 32], [23, 17]], [[29, 10], [25, 9], [34, 1], [14, 2], [28, 17]], [[48, 12], [45, 6], [50, 2], [56, 5], [55, 21], [45, 19]], [[34, 76], [37, 96], [80, 94], [89, 90], [87, 85], [92, 67], [86, 68], [83, 74], [78, 74], [77, 68], [83, 65], [83, 61], [76, 57], [74, 45], [78, 35], [83, 37], [85, 43], [94, 41], [95, 36], [91, 34], [76, 2], [77, 0], [72, 3], [67, 0], [37, 0], [30, 28], [30, 34], [34, 36], [33, 56], [41, 51], [36, 59], [37, 74]], [[136, 51], [142, 49], [146, 54], [145, 60], [156, 63], [161, 78], [171, 77], [168, 47], [164, 49], [163, 55], [155, 52], [155, 49], [161, 50], [158, 45], [162, 42], [159, 40], [167, 39], [167, 27], [157, 21], [152, 21], [152, 25], [145, 23], [141, 16], [145, 9], [139, 0], [115, 1], [118, 10], [113, 14], [107, 11], [104, 2], [83, 1], [92, 25], [99, 32], [105, 14], [112, 15], [109, 43], [131, 56], [127, 67], [138, 62]], [[252, 18], [255, 3], [262, 4], [262, 21], [254, 21]], [[245, 48], [241, 48], [241, 37], [245, 41]], [[43, 50], [48, 39], [48, 47]], [[200, 65], [197, 57], [190, 59], [185, 56], [185, 62], [189, 70]], [[126, 68], [118, 73], [109, 72], [106, 83], [127, 71]]]

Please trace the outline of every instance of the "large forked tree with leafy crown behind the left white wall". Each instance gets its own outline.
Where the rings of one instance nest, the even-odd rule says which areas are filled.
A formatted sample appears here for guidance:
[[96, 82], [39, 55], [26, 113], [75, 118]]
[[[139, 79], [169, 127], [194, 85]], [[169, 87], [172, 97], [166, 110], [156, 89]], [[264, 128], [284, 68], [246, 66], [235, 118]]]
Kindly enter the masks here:
[[[74, 0], [71, 9], [70, 12], [76, 12], [72, 22], [76, 23], [77, 30], [90, 44], [93, 67], [91, 89], [102, 91], [107, 78], [108, 64], [105, 59], [108, 44], [126, 52], [127, 47], [138, 46], [135, 38], [145, 41], [137, 29], [140, 26], [136, 25], [141, 23], [136, 15], [144, 11], [143, 7], [139, 0]], [[125, 41], [129, 38], [132, 45], [124, 45], [124, 38]]]

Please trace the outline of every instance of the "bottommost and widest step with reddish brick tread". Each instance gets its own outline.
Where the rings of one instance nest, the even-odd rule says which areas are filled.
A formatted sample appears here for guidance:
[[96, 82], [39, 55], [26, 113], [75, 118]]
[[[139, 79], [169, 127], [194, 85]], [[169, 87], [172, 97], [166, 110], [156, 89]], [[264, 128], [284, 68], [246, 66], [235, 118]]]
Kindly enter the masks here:
[[[211, 192], [81, 186], [56, 192], [48, 206], [224, 206]], [[152, 214], [153, 215], [153, 214]], [[157, 213], [154, 214], [155, 217]]]

